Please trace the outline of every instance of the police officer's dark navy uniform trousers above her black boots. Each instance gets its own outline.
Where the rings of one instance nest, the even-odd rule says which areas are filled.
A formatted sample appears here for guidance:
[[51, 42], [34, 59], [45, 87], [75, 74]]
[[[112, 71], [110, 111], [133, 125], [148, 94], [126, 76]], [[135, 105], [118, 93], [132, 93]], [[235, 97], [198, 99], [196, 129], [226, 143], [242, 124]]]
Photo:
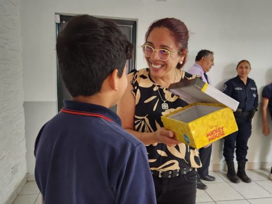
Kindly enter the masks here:
[[247, 142], [251, 135], [251, 119], [247, 119], [247, 117], [235, 117], [235, 119], [238, 131], [224, 137], [223, 155], [226, 161], [233, 160], [236, 148], [236, 160], [247, 161]]

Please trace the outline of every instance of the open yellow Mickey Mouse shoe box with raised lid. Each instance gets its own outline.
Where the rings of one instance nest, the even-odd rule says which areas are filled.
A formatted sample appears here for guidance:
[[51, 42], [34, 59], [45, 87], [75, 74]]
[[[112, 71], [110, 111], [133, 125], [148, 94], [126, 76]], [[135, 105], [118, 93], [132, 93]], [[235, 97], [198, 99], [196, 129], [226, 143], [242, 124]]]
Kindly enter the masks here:
[[199, 149], [238, 131], [232, 109], [239, 102], [213, 86], [197, 78], [172, 84], [169, 90], [190, 103], [161, 117], [177, 140]]

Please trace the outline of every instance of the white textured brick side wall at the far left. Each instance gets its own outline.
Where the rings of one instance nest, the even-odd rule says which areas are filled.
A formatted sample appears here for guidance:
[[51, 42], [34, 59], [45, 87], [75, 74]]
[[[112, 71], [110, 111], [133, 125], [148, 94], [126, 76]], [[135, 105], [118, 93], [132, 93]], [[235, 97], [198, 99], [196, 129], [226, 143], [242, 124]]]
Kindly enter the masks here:
[[[18, 0], [0, 1], [0, 204], [26, 175], [23, 70]], [[14, 198], [17, 195], [12, 195]]]

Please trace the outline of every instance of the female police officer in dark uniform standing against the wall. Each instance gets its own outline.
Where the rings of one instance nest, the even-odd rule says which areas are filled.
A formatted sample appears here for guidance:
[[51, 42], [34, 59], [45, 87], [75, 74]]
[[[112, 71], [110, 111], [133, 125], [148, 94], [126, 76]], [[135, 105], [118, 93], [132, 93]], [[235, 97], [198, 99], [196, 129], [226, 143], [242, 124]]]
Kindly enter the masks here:
[[[223, 155], [227, 163], [227, 177], [233, 183], [238, 183], [238, 177], [245, 183], [251, 179], [246, 175], [245, 164], [248, 161], [247, 142], [251, 135], [251, 121], [258, 107], [257, 86], [253, 79], [248, 78], [251, 71], [249, 61], [241, 60], [237, 65], [237, 77], [230, 79], [222, 86], [222, 92], [239, 102], [234, 112], [238, 131], [224, 138]], [[236, 160], [238, 161], [237, 174], [234, 169], [234, 150], [236, 147]]]

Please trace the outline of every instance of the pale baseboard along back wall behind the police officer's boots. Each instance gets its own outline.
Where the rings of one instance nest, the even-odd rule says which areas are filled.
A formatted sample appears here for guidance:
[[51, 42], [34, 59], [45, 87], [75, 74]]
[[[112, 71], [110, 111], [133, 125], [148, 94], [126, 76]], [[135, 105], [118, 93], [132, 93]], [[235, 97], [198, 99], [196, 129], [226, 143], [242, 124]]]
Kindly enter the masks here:
[[[237, 168], [238, 164], [234, 162], [235, 168]], [[257, 170], [257, 169], [271, 169], [272, 162], [247, 162], [246, 169], [247, 170]], [[220, 170], [227, 170], [226, 163], [221, 164], [211, 164], [209, 166], [209, 171], [220, 171]]]

